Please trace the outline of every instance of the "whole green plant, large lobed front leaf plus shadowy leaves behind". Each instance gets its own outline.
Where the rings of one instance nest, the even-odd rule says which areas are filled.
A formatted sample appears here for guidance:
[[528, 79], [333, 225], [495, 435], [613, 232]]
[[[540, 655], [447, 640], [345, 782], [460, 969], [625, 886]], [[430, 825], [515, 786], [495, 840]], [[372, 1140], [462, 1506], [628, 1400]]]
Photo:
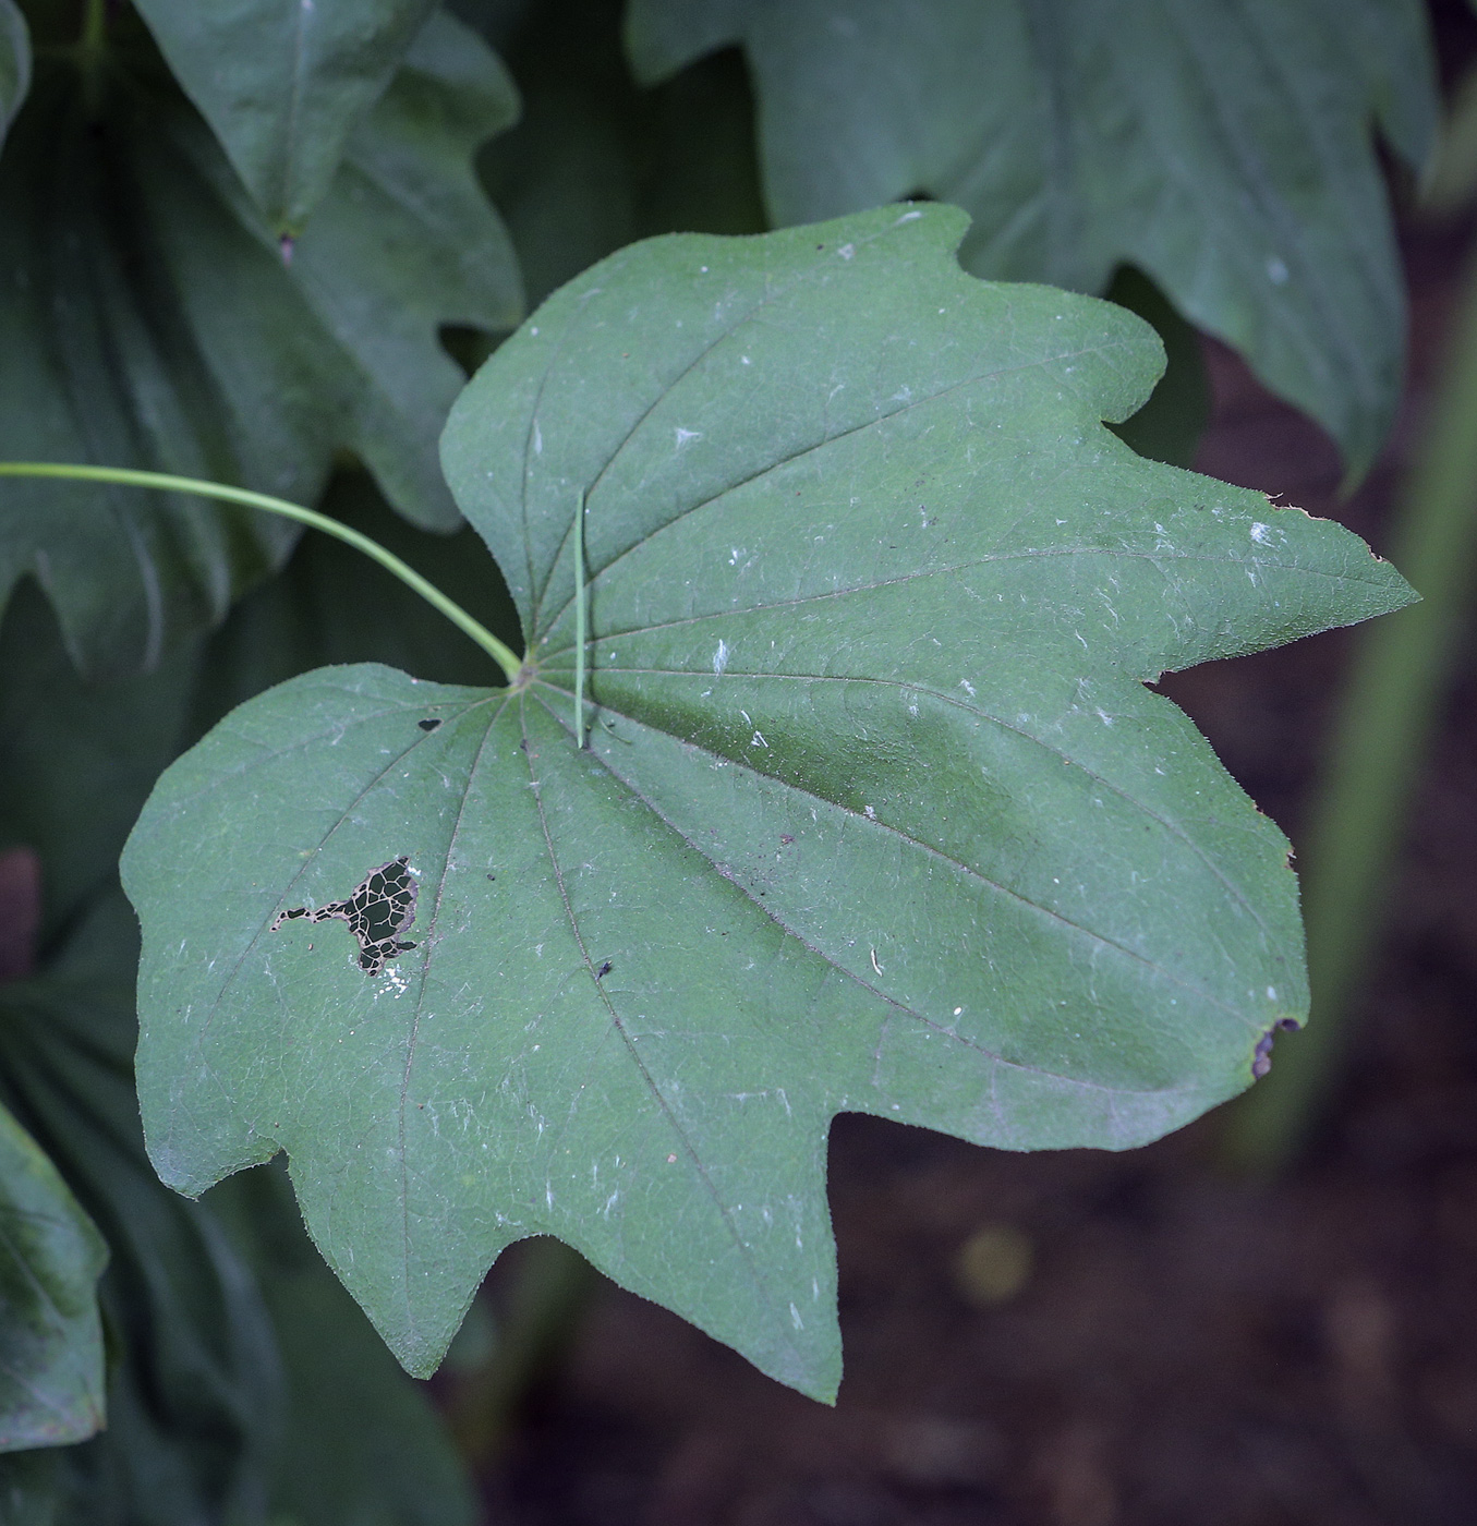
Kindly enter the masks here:
[[[41, 963], [0, 992], [0, 1143], [8, 1276], [47, 1289], [5, 1337], [0, 1445], [41, 1518], [467, 1518], [325, 1265], [429, 1375], [500, 1250], [555, 1236], [832, 1399], [838, 1112], [1125, 1149], [1303, 1021], [1288, 844], [1152, 685], [1410, 589], [1337, 525], [1150, 459], [1193, 429], [1146, 421], [1195, 385], [1167, 291], [1367, 462], [1401, 333], [1370, 134], [1425, 151], [1421, 12], [1187, 5], [1176, 35], [1233, 61], [1212, 78], [1091, 6], [1051, 50], [1024, 6], [931, 5], [908, 38], [858, 5], [827, 52], [825, 8], [732, 0], [703, 31], [639, 0], [647, 81], [743, 49], [758, 153], [722, 215], [658, 215], [632, 171], [624, 211], [574, 198], [549, 240], [548, 200], [471, 154], [517, 110], [488, 40], [536, 96], [519, 163], [546, 188], [594, 153], [540, 137], [552, 11], [0, 0], [5, 826], [44, 873]], [[1268, 38], [1326, 121], [1273, 99]], [[941, 81], [922, 140], [885, 84], [867, 122], [827, 95], [900, 56]], [[1164, 89], [1115, 98], [1115, 162], [1152, 218], [1030, 148], [1050, 96], [1099, 154], [1144, 58]], [[1015, 121], [977, 121], [960, 60], [1004, 70]], [[1228, 92], [1230, 146], [1169, 90], [1192, 78]], [[619, 89], [630, 163], [722, 136]], [[1166, 131], [1254, 215], [1195, 201]], [[996, 139], [1013, 179], [990, 189], [993, 150], [957, 172], [951, 143]], [[1346, 221], [1353, 273], [1317, 253]], [[562, 281], [551, 244], [606, 258]], [[545, 301], [493, 349], [525, 276]], [[1179, 391], [1141, 317], [1022, 276], [1140, 291]], [[345, 450], [398, 519], [342, 473], [294, 502]], [[284, 1175], [247, 1170], [278, 1158], [311, 1245]], [[314, 1402], [346, 1383], [404, 1439], [394, 1477]]]

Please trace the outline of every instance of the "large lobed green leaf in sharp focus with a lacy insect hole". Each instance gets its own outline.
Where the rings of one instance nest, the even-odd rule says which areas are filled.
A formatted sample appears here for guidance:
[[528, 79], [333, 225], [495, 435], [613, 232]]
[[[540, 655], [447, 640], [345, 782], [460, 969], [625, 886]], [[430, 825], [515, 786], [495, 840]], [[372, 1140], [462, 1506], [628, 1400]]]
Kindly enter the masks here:
[[1128, 1148], [1305, 1012], [1286, 841], [1143, 685], [1408, 589], [1134, 456], [1099, 421], [1147, 325], [972, 279], [964, 226], [659, 238], [565, 287], [444, 441], [523, 681], [284, 684], [130, 838], [156, 1167], [285, 1149], [412, 1372], [548, 1233], [830, 1396], [836, 1112]]

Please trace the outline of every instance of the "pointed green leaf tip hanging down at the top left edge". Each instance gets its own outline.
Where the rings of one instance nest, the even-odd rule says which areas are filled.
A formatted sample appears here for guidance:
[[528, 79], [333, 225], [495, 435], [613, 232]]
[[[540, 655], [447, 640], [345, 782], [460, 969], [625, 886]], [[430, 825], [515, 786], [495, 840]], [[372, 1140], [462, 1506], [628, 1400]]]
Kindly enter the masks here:
[[298, 235], [435, 0], [137, 6], [262, 217]]

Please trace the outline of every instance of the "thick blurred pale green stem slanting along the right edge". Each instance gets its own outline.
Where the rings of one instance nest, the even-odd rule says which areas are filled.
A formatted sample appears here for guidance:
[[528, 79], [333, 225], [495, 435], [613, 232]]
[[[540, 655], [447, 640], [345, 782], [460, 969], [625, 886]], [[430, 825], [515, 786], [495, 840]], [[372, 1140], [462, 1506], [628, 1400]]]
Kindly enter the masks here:
[[1295, 1157], [1340, 1074], [1469, 613], [1477, 563], [1477, 261], [1390, 545], [1390, 559], [1422, 601], [1355, 636], [1298, 855], [1311, 1021], [1306, 1033], [1279, 1038], [1271, 1073], [1230, 1111], [1222, 1138], [1230, 1163], [1256, 1173]]

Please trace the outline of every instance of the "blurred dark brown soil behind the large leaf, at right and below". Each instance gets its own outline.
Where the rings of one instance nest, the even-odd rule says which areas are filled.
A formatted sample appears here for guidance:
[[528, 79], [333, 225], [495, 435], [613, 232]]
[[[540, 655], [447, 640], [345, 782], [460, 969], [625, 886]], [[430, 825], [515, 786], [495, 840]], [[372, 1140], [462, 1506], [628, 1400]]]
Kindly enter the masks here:
[[[1201, 468], [1379, 549], [1466, 243], [1408, 233], [1411, 398], [1352, 502], [1331, 444], [1216, 346]], [[1164, 684], [1294, 842], [1347, 652], [1323, 636]], [[1282, 1180], [1221, 1167], [1225, 1109], [1128, 1155], [1018, 1157], [842, 1117], [836, 1408], [603, 1286], [488, 1470], [490, 1518], [1477, 1521], [1474, 702], [1468, 647], [1352, 1059]]]

